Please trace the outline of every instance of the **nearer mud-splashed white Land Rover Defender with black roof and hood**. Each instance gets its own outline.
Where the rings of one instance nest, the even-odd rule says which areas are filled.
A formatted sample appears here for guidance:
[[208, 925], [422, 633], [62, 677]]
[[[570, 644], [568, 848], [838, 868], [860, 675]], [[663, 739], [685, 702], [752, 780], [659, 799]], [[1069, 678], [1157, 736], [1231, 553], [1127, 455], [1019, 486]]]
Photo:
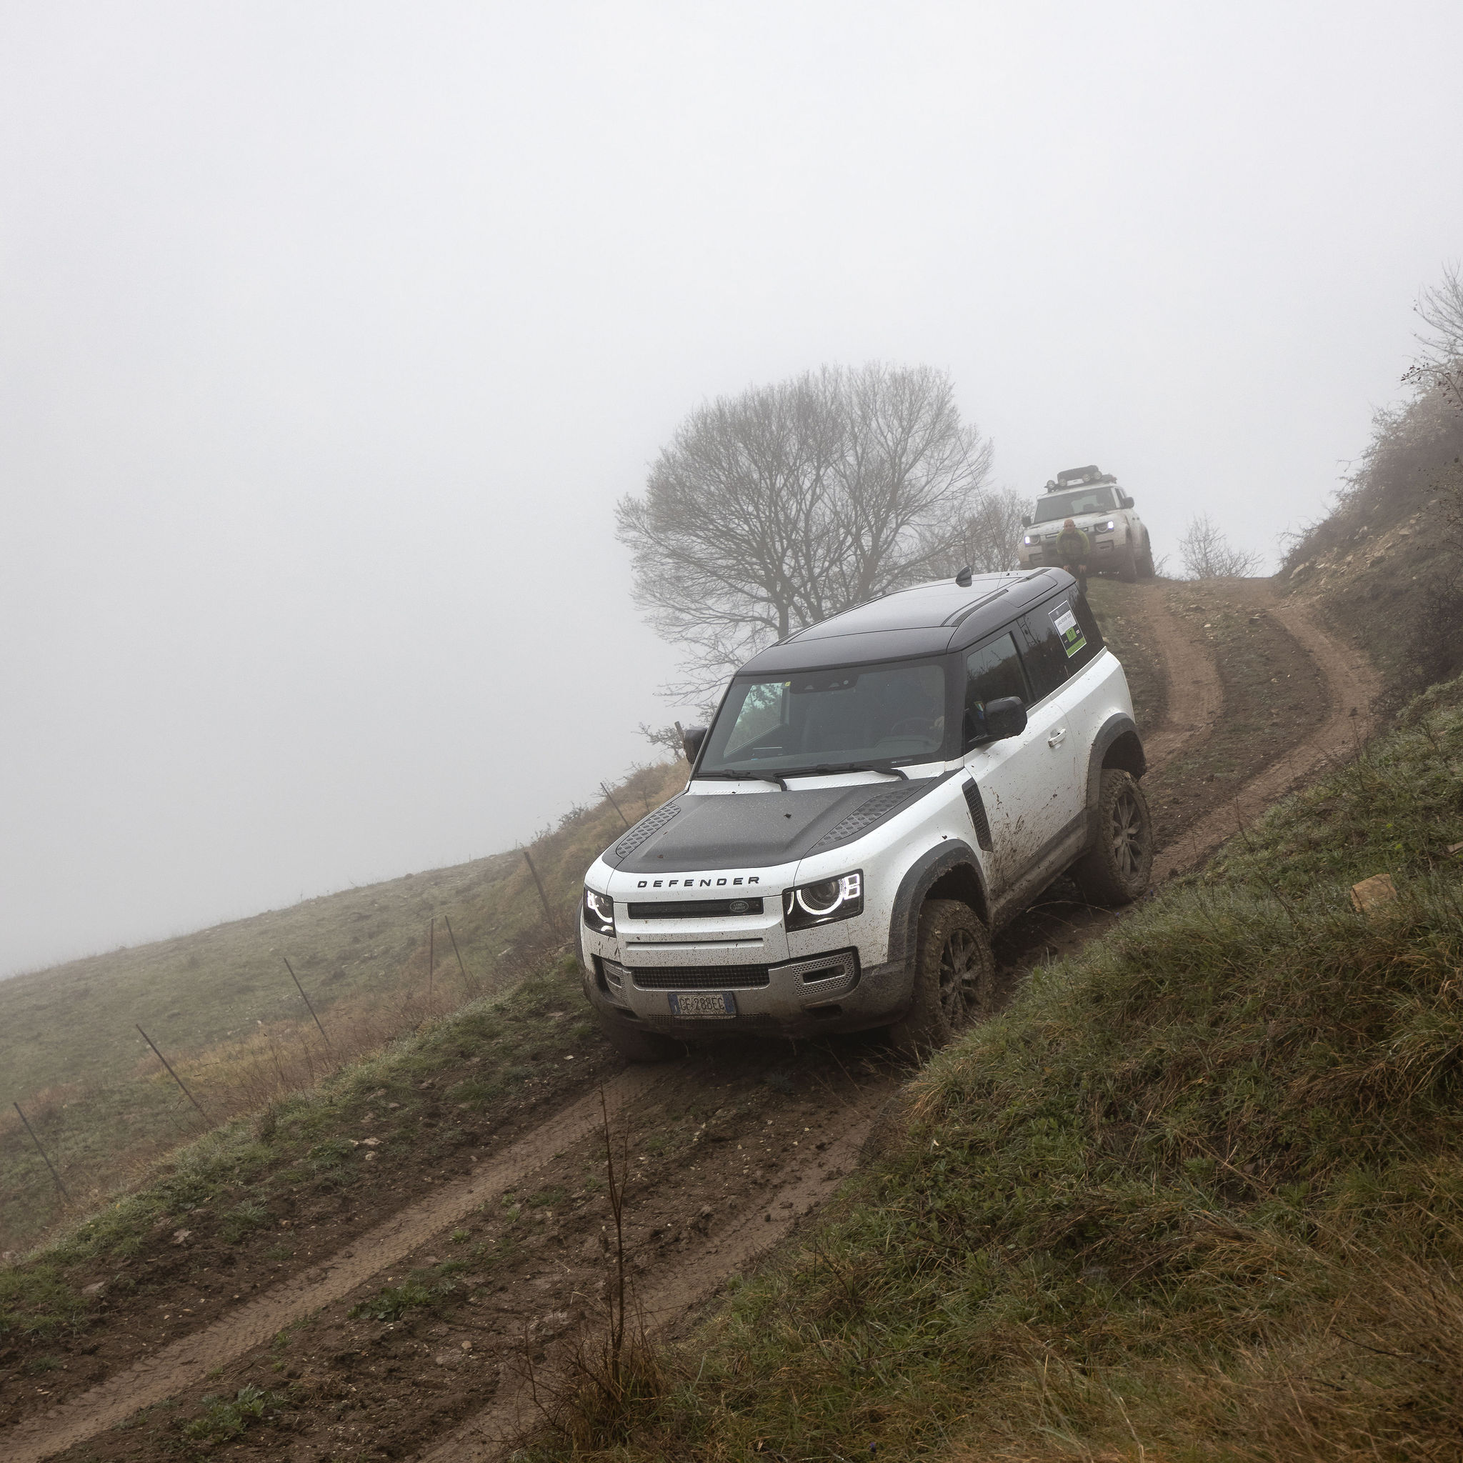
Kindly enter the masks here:
[[989, 1009], [990, 935], [1064, 870], [1148, 884], [1122, 666], [1061, 569], [923, 584], [799, 631], [732, 679], [691, 780], [594, 860], [584, 989], [632, 1059], [714, 1034]]

